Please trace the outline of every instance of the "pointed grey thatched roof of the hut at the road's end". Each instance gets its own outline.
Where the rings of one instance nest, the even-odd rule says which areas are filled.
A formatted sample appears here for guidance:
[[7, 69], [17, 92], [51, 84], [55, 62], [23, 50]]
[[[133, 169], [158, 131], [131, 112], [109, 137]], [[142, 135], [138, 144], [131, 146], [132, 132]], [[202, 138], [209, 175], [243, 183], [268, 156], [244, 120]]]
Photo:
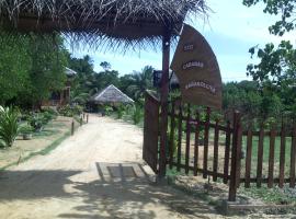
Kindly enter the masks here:
[[93, 95], [90, 101], [94, 103], [134, 103], [130, 97], [113, 84]]

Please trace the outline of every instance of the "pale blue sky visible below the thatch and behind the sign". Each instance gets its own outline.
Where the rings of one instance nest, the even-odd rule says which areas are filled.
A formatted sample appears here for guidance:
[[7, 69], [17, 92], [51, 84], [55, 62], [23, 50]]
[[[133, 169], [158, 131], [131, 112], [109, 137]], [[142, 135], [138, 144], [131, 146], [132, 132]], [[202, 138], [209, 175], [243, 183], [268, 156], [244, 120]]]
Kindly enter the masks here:
[[[273, 36], [267, 27], [274, 23], [275, 16], [264, 14], [263, 5], [247, 8], [242, 0], [207, 0], [210, 8], [208, 18], [189, 18], [186, 23], [194, 26], [205, 36], [216, 54], [221, 78], [224, 82], [251, 80], [246, 74], [247, 65], [255, 62], [248, 53], [249, 48], [266, 43], [278, 43], [283, 38]], [[285, 39], [291, 39], [295, 44], [295, 33], [285, 35]], [[101, 71], [100, 64], [107, 61], [113, 70], [117, 70], [121, 76], [140, 71], [145, 66], [152, 66], [161, 70], [161, 49], [114, 54], [93, 50], [70, 50], [75, 57], [90, 55], [93, 59], [94, 70]], [[172, 49], [172, 55], [174, 49]]]

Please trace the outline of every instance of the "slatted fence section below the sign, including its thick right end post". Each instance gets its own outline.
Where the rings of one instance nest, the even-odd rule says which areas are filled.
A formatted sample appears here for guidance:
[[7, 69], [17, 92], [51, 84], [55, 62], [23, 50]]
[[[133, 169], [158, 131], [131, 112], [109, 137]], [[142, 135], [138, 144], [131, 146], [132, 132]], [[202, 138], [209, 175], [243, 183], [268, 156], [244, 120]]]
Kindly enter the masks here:
[[221, 178], [229, 183], [229, 199], [234, 200], [241, 154], [239, 114], [234, 114], [232, 123], [221, 118], [213, 122], [210, 108], [192, 112], [190, 105], [175, 103], [170, 108], [169, 168], [212, 176], [214, 182]]

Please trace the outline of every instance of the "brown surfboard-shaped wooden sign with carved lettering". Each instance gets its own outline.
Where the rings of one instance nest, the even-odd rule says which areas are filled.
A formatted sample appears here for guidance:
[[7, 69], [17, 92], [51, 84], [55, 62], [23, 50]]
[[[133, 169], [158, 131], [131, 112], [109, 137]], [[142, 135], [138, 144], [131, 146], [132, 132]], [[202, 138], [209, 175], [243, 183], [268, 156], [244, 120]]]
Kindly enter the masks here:
[[221, 108], [221, 76], [214, 51], [195, 28], [184, 25], [171, 69], [183, 102]]

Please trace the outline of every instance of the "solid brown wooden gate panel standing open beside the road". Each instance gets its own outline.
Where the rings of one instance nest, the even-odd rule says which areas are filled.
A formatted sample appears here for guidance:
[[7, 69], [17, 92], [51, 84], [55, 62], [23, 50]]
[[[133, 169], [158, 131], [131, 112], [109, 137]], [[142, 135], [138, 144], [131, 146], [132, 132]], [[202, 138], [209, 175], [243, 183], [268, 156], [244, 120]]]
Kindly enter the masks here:
[[158, 173], [159, 164], [159, 107], [160, 102], [147, 92], [145, 99], [143, 159], [155, 173]]

